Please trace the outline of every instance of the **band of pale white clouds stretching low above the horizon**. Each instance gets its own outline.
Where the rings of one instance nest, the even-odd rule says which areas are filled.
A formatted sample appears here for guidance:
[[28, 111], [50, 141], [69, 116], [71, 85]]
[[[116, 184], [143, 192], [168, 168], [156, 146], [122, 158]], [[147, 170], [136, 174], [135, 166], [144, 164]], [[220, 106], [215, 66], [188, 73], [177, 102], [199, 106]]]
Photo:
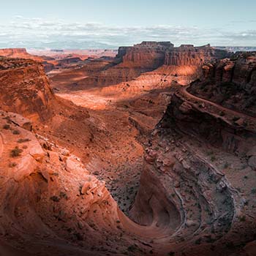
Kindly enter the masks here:
[[117, 48], [143, 40], [171, 41], [175, 45], [256, 45], [256, 30], [225, 31], [183, 26], [106, 26], [102, 23], [68, 23], [65, 20], [15, 16], [1, 25], [0, 47]]

